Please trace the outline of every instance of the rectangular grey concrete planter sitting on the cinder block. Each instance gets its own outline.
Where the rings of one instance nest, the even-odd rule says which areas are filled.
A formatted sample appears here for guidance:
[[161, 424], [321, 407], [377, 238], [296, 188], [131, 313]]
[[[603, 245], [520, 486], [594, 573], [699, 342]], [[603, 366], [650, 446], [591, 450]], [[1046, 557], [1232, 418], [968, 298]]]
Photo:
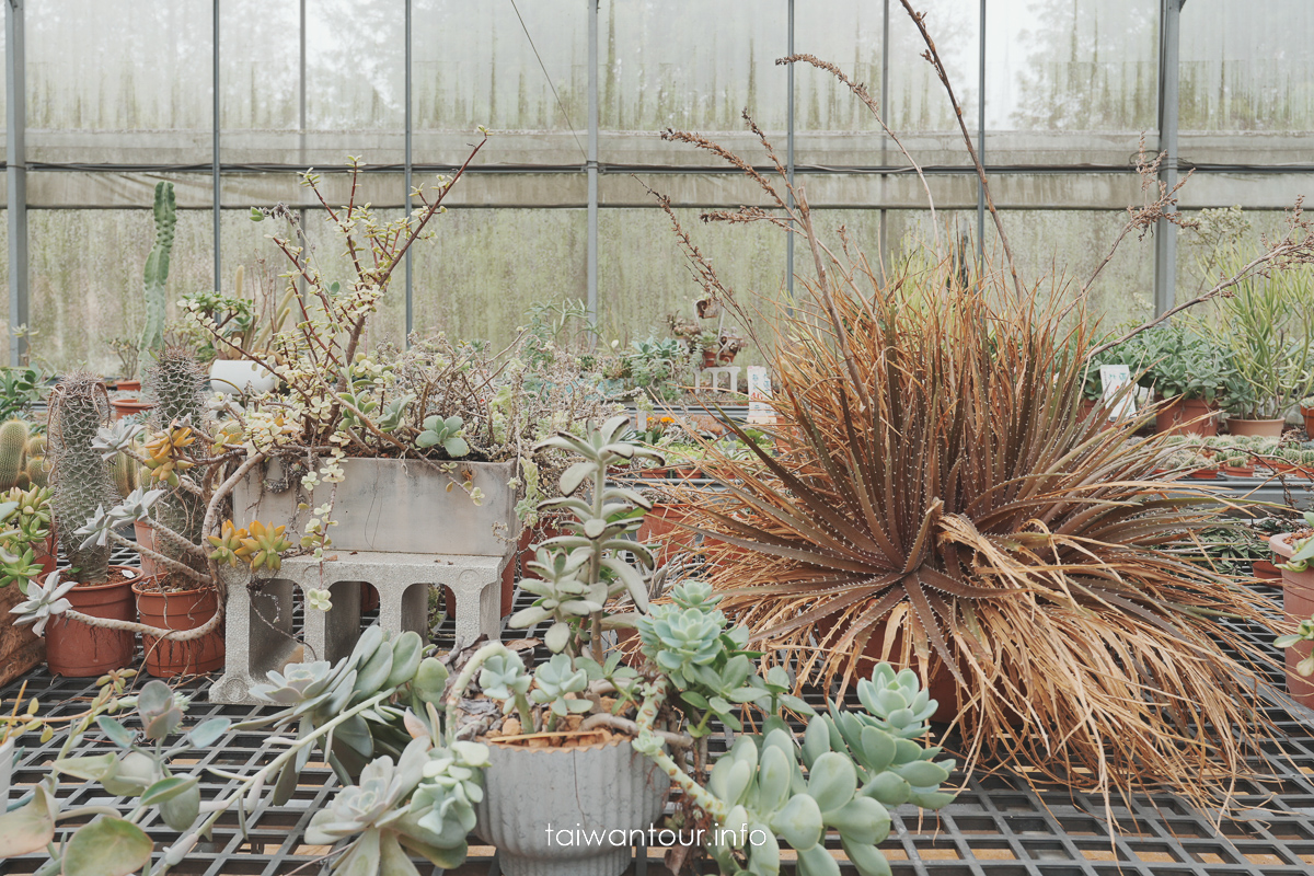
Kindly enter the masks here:
[[[252, 471], [233, 491], [234, 521], [288, 524], [289, 540], [298, 544], [311, 511], [328, 503], [332, 485], [309, 493], [301, 471], [288, 473], [277, 460], [265, 469]], [[328, 529], [331, 550], [501, 557], [507, 540], [519, 533], [515, 491], [507, 486], [515, 462], [456, 464], [451, 478], [469, 479], [482, 490], [478, 506], [460, 487], [448, 491], [451, 478], [418, 460], [347, 458], [342, 469], [332, 511], [338, 525]], [[298, 511], [302, 502], [307, 510]]]

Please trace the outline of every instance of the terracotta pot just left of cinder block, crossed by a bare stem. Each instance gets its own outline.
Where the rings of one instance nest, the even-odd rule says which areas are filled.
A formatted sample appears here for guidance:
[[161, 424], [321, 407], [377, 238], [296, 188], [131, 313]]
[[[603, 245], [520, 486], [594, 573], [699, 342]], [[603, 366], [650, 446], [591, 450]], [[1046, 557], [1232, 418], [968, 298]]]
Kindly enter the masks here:
[[[219, 609], [218, 598], [210, 587], [160, 592], [145, 590], [147, 583], [154, 580], [133, 584], [137, 612], [143, 624], [160, 629], [196, 629]], [[146, 654], [146, 671], [155, 678], [205, 675], [223, 666], [223, 628], [217, 626], [201, 638], [187, 642], [142, 636], [142, 650]]]

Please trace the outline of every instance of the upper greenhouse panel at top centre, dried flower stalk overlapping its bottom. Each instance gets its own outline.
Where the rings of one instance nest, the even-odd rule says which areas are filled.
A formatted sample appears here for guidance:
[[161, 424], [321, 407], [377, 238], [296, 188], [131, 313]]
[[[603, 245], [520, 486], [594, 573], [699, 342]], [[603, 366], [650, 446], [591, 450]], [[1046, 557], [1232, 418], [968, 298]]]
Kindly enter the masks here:
[[[657, 133], [674, 127], [710, 134], [724, 146], [765, 159], [745, 131], [749, 113], [784, 160], [788, 76], [783, 0], [671, 0], [599, 5], [599, 139], [612, 164], [717, 164], [716, 156]], [[750, 151], [752, 150], [752, 151]]]

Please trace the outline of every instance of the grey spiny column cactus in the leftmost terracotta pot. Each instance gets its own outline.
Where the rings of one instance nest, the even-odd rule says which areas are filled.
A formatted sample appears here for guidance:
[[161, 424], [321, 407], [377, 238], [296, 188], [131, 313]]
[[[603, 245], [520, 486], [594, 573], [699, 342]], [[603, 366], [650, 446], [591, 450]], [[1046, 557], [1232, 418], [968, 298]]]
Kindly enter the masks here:
[[92, 449], [96, 429], [108, 420], [109, 398], [95, 374], [71, 372], [50, 393], [47, 453], [53, 462], [55, 529], [59, 548], [74, 566], [67, 577], [80, 583], [109, 577], [109, 548], [92, 545], [84, 550], [81, 536], [74, 535], [99, 508], [118, 504], [109, 466]]

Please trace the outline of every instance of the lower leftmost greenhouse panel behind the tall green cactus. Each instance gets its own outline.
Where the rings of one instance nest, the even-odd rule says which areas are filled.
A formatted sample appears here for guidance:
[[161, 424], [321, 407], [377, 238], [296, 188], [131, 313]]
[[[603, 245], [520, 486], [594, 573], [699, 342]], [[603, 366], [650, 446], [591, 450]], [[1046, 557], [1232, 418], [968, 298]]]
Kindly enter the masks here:
[[[171, 322], [180, 297], [213, 286], [212, 215], [179, 210], [167, 286]], [[155, 238], [151, 211], [30, 210], [28, 227], [33, 359], [58, 370], [85, 365], [121, 373], [109, 341], [141, 335], [142, 267]]]

